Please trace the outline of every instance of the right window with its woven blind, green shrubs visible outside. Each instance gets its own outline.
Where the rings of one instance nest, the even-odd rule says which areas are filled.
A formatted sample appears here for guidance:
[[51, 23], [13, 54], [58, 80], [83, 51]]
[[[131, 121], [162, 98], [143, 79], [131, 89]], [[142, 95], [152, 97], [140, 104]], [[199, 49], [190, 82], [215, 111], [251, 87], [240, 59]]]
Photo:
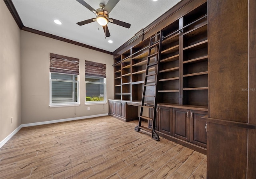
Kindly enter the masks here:
[[86, 103], [106, 102], [106, 64], [85, 61]]

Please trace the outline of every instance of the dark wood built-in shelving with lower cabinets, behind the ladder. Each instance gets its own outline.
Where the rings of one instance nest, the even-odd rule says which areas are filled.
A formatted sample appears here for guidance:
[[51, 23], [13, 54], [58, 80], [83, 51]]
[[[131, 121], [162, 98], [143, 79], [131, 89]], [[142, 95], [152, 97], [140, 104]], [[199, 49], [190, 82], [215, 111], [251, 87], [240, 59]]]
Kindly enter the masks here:
[[[159, 73], [157, 134], [206, 154], [206, 122], [201, 117], [208, 110], [207, 2], [194, 3], [196, 7], [185, 13], [180, 9], [182, 16], [161, 25], [159, 71], [152, 67], [149, 75]], [[154, 33], [157, 31], [159, 28]], [[154, 34], [150, 33], [145, 34], [148, 38], [114, 55], [115, 95], [111, 102], [120, 100], [128, 106], [140, 106], [149, 37]], [[153, 49], [150, 54], [154, 53]], [[153, 63], [155, 58], [151, 57], [150, 64]], [[150, 83], [156, 83], [153, 77], [148, 77], [147, 84]], [[152, 91], [153, 86], [146, 95]], [[147, 101], [148, 105], [152, 103], [150, 98]], [[149, 128], [151, 125], [148, 123]]]

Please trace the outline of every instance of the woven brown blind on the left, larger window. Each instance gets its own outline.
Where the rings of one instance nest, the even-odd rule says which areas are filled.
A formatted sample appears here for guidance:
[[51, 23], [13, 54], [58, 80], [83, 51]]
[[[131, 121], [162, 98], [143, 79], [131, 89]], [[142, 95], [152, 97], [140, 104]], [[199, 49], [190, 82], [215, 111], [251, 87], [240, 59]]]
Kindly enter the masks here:
[[79, 59], [50, 53], [50, 72], [79, 75]]

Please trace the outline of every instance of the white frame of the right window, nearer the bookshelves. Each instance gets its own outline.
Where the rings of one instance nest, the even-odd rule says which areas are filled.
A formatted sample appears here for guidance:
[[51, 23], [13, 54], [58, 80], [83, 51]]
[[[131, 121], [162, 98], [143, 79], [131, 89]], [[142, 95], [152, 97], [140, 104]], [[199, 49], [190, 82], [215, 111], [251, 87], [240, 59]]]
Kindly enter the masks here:
[[[91, 78], [103, 78], [103, 82], [94, 82], [94, 81], [86, 81], [86, 78], [91, 77]], [[104, 88], [104, 101], [86, 101], [86, 84], [98, 84], [98, 85], [103, 85]], [[90, 76], [90, 75], [85, 75], [85, 105], [91, 105], [91, 104], [106, 104], [107, 99], [106, 99], [106, 78], [105, 77], [96, 77], [96, 76]]]

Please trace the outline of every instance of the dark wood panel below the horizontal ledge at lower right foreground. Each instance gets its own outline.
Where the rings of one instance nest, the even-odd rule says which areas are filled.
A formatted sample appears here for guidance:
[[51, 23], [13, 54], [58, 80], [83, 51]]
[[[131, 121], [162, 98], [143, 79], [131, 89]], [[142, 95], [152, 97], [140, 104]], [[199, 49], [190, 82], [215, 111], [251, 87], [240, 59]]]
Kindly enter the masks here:
[[247, 129], [212, 122], [207, 129], [207, 179], [246, 179]]

